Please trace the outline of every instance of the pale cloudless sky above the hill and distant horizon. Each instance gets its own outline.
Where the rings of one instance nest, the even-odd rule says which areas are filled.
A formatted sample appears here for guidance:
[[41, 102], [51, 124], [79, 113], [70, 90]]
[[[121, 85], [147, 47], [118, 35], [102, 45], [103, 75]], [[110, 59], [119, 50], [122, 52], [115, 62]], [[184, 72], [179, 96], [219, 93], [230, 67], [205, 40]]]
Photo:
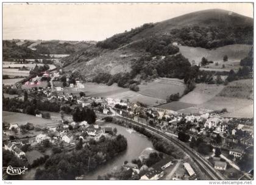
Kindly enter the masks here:
[[206, 9], [253, 17], [251, 3], [4, 4], [3, 39], [100, 41], [144, 23]]

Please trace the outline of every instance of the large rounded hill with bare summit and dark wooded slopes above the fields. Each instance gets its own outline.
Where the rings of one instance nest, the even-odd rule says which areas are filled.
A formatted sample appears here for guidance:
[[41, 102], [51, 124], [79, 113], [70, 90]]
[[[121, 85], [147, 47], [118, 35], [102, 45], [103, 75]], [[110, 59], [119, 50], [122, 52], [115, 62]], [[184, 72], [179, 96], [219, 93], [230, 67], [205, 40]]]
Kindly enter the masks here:
[[[230, 44], [252, 44], [252, 41], [252, 18], [226, 10], [204, 10], [160, 23], [143, 24], [141, 27], [99, 41], [96, 46], [91, 46], [86, 50], [82, 49], [63, 58], [62, 61], [66, 71], [79, 70], [86, 80], [93, 79], [93, 76], [99, 72], [112, 75], [131, 72], [133, 77], [135, 75], [143, 76], [145, 73], [146, 78], [160, 76], [182, 79], [184, 75], [179, 77], [175, 74], [177, 73], [176, 69], [166, 72], [163, 69], [165, 66], [161, 69], [156, 67], [158, 63], [168, 65], [164, 56], [176, 55], [179, 51], [182, 53], [182, 49], [179, 49], [179, 46], [174, 46], [174, 42], [180, 43], [182, 46], [207, 49], [205, 53], [216, 49], [222, 55], [221, 49], [218, 47]], [[244, 57], [244, 53], [248, 52], [249, 47], [244, 47], [244, 51], [243, 47], [239, 48], [241, 57], [236, 57], [236, 52], [229, 51], [233, 47], [226, 47], [226, 50], [230, 54], [234, 54], [234, 56], [229, 56], [230, 58], [241, 59]], [[211, 51], [211, 53], [215, 54], [215, 51]], [[177, 58], [172, 58], [171, 61]], [[186, 58], [188, 57], [186, 56]], [[180, 62], [183, 61], [185, 59], [180, 60]], [[134, 66], [138, 66], [137, 63], [141, 64], [140, 70], [133, 70]]]

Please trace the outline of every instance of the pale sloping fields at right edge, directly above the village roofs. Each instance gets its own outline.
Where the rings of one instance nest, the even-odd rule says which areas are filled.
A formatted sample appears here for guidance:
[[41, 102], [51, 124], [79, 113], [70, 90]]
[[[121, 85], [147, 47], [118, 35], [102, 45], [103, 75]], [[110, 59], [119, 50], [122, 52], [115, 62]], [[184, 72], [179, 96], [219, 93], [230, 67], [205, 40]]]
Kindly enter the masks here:
[[222, 110], [228, 113], [223, 117], [253, 117], [252, 80], [238, 80], [229, 85], [210, 85], [200, 83], [196, 88], [177, 102], [158, 106], [182, 113], [194, 113], [199, 108], [205, 110]]

